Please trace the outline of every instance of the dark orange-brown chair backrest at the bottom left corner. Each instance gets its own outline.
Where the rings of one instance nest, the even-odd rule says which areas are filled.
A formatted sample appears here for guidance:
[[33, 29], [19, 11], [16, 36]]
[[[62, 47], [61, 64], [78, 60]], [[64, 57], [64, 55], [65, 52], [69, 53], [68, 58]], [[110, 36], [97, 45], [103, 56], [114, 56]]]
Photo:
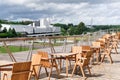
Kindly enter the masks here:
[[13, 64], [11, 80], [28, 80], [31, 62], [19, 62]]

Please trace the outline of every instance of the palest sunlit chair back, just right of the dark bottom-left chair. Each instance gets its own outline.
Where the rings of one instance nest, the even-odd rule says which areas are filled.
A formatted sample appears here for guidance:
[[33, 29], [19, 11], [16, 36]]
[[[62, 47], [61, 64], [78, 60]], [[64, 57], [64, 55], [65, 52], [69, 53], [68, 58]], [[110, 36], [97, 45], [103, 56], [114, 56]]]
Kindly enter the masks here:
[[[31, 65], [31, 69], [33, 69], [33, 65], [36, 64], [40, 64], [41, 62], [41, 55], [37, 54], [33, 54], [32, 55], [32, 65]], [[38, 75], [39, 74], [39, 70], [40, 70], [40, 66], [34, 66], [35, 72]], [[35, 73], [33, 72], [33, 75], [35, 75]]]

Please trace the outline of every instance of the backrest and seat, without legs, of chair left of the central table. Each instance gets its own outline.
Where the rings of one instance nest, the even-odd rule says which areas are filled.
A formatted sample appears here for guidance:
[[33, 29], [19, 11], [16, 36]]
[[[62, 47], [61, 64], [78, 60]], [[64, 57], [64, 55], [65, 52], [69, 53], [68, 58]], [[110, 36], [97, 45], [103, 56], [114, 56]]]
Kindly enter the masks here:
[[[43, 67], [51, 67], [51, 62], [49, 61], [48, 53], [44, 52], [44, 51], [38, 51], [38, 54], [41, 55], [41, 62], [40, 62], [40, 64]], [[44, 58], [44, 59], [42, 59], [42, 58]]]

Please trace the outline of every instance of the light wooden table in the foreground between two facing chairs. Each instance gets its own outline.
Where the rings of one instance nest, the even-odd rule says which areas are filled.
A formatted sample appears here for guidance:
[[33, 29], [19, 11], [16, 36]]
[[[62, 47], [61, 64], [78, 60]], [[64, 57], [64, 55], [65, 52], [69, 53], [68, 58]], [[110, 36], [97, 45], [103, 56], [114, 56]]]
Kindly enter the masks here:
[[75, 59], [76, 59], [76, 54], [77, 53], [52, 53], [51, 56], [52, 57], [62, 56], [62, 57], [65, 58], [65, 60], [66, 60], [66, 76], [68, 77], [68, 61], [69, 61], [69, 56], [75, 55]]

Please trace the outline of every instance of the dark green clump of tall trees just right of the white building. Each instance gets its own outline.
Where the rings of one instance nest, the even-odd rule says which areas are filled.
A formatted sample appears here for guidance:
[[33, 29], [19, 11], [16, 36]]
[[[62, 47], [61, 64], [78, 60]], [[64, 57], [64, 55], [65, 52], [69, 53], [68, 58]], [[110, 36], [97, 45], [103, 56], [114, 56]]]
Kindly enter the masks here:
[[61, 27], [62, 35], [79, 35], [88, 30], [83, 22], [80, 22], [78, 25], [73, 25], [72, 23], [68, 25], [57, 23], [53, 24], [53, 26]]

